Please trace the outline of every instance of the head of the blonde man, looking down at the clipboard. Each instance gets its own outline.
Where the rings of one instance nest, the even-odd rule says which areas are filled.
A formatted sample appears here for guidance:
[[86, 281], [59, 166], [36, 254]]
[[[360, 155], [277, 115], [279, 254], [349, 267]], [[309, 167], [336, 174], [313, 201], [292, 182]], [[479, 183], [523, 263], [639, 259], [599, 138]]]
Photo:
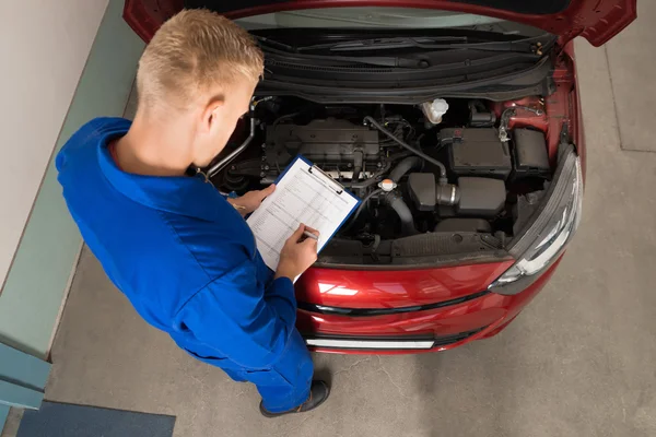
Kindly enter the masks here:
[[207, 10], [173, 16], [145, 48], [137, 73], [137, 117], [184, 126], [194, 164], [225, 146], [247, 110], [263, 56], [242, 27]]

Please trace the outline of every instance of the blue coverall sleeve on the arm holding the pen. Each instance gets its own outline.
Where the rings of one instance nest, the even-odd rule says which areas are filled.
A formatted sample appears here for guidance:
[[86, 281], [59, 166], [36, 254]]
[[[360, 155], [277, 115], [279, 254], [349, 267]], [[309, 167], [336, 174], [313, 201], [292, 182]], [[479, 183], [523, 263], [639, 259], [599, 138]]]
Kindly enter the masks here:
[[284, 352], [296, 322], [294, 287], [288, 277], [268, 290], [258, 285], [256, 267], [244, 261], [197, 293], [179, 320], [207, 345], [243, 367], [261, 369]]

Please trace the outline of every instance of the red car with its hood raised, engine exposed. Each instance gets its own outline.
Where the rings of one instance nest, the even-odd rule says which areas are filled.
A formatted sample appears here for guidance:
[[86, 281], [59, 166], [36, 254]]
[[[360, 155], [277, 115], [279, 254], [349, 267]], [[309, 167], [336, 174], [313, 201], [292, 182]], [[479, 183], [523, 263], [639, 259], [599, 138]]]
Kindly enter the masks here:
[[302, 154], [363, 199], [296, 283], [311, 347], [456, 347], [542, 290], [581, 217], [572, 39], [606, 43], [635, 0], [127, 0], [125, 19], [148, 42], [184, 7], [266, 55], [216, 188], [268, 185]]

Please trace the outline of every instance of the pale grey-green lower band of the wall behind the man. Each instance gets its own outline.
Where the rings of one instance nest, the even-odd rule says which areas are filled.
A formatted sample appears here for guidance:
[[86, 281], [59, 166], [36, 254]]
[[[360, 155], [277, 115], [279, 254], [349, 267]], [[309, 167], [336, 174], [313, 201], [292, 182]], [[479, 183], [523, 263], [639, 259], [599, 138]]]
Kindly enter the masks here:
[[[121, 116], [124, 113], [144, 44], [124, 22], [122, 4], [122, 0], [109, 0], [68, 108], [55, 153], [90, 119], [98, 116]], [[58, 2], [58, 8], [65, 9], [65, 5]], [[83, 19], [85, 16], [82, 13], [79, 16], [73, 14], [71, 23]], [[69, 35], [73, 38], [74, 36]], [[48, 66], [43, 68], [47, 71]], [[49, 117], [47, 110], [42, 111], [43, 108], [38, 105], [39, 101], [35, 98], [31, 106], [39, 110], [22, 115], [25, 118], [32, 117], [30, 123], [35, 130], [40, 128], [40, 119]], [[51, 150], [39, 153], [49, 156]], [[61, 197], [52, 158], [54, 156], [48, 163], [32, 214], [0, 294], [0, 343], [38, 357], [46, 357], [48, 353], [82, 244]], [[16, 190], [23, 180], [23, 176], [16, 175], [3, 189]]]

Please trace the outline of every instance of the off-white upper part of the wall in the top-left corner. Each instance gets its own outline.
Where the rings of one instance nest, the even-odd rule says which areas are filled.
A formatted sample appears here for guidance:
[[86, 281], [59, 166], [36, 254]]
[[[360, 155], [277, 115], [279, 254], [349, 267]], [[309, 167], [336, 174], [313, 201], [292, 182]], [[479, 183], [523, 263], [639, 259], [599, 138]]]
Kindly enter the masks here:
[[0, 284], [106, 8], [107, 0], [0, 1]]

